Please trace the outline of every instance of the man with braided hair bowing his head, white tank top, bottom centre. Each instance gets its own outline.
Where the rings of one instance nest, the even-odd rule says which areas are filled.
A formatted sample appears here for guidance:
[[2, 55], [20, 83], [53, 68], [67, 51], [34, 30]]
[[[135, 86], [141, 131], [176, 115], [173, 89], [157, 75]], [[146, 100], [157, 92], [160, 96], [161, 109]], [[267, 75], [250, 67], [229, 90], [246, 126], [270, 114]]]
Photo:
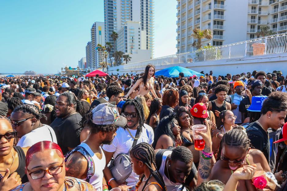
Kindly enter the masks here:
[[157, 167], [167, 191], [186, 190], [182, 186], [187, 182], [190, 188], [196, 185], [197, 170], [193, 163], [192, 152], [187, 147], [178, 146], [172, 151], [157, 149], [155, 153]]

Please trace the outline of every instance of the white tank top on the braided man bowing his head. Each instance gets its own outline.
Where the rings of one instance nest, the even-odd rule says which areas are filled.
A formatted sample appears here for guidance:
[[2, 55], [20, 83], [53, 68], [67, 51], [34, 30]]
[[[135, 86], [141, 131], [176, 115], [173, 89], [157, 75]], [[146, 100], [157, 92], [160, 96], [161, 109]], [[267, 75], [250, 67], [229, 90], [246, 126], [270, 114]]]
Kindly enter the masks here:
[[[159, 173], [163, 176], [163, 181], [166, 185], [167, 191], [179, 191], [182, 188], [182, 184], [171, 182], [170, 179], [167, 178], [166, 175], [164, 174], [164, 169], [166, 167], [166, 158], [168, 155], [171, 155], [171, 152], [172, 151], [163, 152], [163, 158], [162, 158], [162, 163], [159, 168]], [[186, 190], [186, 188], [184, 188], [183, 190]]]

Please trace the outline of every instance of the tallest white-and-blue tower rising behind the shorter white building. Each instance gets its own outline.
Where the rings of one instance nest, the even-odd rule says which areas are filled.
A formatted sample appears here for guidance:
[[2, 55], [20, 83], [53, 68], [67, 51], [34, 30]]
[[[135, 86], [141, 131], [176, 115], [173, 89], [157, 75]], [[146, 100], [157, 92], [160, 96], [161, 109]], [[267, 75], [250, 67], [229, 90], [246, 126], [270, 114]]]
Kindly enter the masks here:
[[[146, 50], [151, 50], [148, 58], [153, 57], [154, 51], [154, 0], [104, 0], [105, 14], [105, 41], [113, 45], [111, 34], [113, 31], [119, 33], [126, 21], [140, 22], [140, 30], [144, 31], [140, 40]], [[142, 33], [142, 32], [141, 32]], [[116, 50], [119, 51], [123, 44], [116, 44]], [[142, 46], [142, 45], [141, 45]], [[113, 56], [113, 51], [110, 56]], [[123, 51], [125, 53], [125, 51]], [[134, 53], [132, 53], [134, 54]]]

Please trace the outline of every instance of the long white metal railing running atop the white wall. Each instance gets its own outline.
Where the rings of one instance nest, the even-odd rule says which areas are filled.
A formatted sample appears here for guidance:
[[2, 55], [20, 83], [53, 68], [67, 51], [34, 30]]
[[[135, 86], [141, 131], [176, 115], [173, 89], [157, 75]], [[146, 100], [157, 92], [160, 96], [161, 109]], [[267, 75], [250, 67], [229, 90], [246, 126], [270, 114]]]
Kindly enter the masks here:
[[287, 33], [110, 67], [109, 70], [192, 63], [287, 52]]

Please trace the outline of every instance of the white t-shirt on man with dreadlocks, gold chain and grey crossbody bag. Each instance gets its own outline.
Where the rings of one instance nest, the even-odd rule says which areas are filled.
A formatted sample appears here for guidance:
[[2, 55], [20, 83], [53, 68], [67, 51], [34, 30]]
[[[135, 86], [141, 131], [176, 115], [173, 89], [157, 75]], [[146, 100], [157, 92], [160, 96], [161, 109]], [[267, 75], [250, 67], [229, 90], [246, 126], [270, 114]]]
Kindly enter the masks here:
[[[137, 144], [143, 142], [152, 144], [154, 140], [153, 129], [147, 124], [144, 124], [143, 126], [143, 132], [140, 134], [140, 138], [137, 140]], [[136, 130], [129, 129], [129, 131], [131, 132], [132, 136], [136, 136]], [[133, 141], [134, 139], [130, 136], [128, 130], [124, 130], [124, 128], [120, 127], [117, 129], [117, 135], [114, 138], [113, 143], [110, 145], [104, 144], [102, 148], [106, 152], [114, 152], [113, 157], [116, 158], [118, 154], [128, 154], [132, 147]], [[126, 182], [128, 182], [128, 186], [136, 185], [136, 183], [139, 182], [139, 175], [132, 172]]]

